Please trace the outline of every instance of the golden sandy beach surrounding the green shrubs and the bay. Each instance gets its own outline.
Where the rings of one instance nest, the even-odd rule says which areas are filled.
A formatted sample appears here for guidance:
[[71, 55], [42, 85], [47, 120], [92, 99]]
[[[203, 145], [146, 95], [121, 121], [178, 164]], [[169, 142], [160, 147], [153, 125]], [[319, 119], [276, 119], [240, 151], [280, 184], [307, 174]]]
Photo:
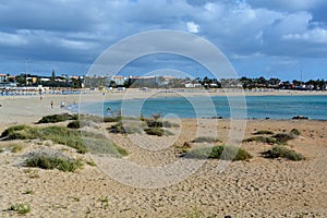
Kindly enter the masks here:
[[[271, 92], [256, 95], [307, 95], [310, 92]], [[253, 93], [246, 95], [255, 95]], [[322, 95], [322, 93], [310, 93]], [[323, 93], [326, 95], [326, 93]], [[153, 93], [132, 92], [129, 98], [148, 97]], [[168, 93], [167, 96], [178, 95]], [[184, 95], [184, 94], [183, 94]], [[185, 95], [197, 95], [194, 93]], [[198, 94], [199, 95], [199, 94]], [[210, 93], [209, 95], [226, 95]], [[44, 116], [66, 112], [60, 108], [80, 100], [121, 99], [124, 93], [80, 95], [2, 96], [0, 97], [0, 132], [13, 124], [35, 126]], [[53, 101], [53, 108], [50, 102]], [[327, 121], [314, 120], [247, 120], [244, 138], [258, 130], [274, 133], [298, 129], [301, 135], [288, 142], [288, 147], [301, 153], [305, 160], [267, 159], [262, 153], [271, 145], [242, 143], [253, 158], [233, 161], [222, 172], [221, 160], [206, 160], [195, 173], [165, 187], [141, 189], [123, 184], [104, 172], [100, 166], [84, 165], [75, 172], [24, 167], [24, 158], [33, 150], [55, 149], [83, 160], [88, 154], [77, 154], [64, 145], [39, 140], [0, 141], [0, 217], [21, 217], [10, 210], [11, 204], [28, 203], [26, 217], [327, 217]], [[66, 125], [68, 121], [58, 123]], [[175, 145], [194, 140], [195, 130], [213, 131], [217, 124], [218, 138], [228, 141], [230, 120], [182, 119], [178, 135], [150, 143], [170, 142], [161, 150], [135, 146], [131, 136], [109, 133], [110, 138], [129, 156], [124, 160], [142, 166], [169, 165], [180, 159]], [[55, 124], [56, 125], [56, 124]], [[100, 130], [100, 129], [99, 129]], [[146, 142], [146, 141], [143, 141]], [[23, 146], [13, 153], [7, 147]], [[4, 150], [4, 152], [3, 152]], [[97, 162], [98, 164], [98, 162]]]

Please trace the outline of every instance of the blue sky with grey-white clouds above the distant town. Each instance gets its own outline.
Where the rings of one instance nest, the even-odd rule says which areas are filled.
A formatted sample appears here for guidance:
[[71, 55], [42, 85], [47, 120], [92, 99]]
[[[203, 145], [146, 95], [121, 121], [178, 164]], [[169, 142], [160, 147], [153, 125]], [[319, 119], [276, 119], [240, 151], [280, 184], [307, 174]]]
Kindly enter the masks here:
[[[174, 29], [215, 45], [240, 76], [300, 80], [302, 70], [303, 80], [327, 80], [326, 10], [326, 0], [1, 0], [0, 72], [25, 72], [28, 58], [28, 72], [85, 74], [124, 37]], [[141, 74], [154, 63], [202, 73], [162, 55], [124, 69]]]

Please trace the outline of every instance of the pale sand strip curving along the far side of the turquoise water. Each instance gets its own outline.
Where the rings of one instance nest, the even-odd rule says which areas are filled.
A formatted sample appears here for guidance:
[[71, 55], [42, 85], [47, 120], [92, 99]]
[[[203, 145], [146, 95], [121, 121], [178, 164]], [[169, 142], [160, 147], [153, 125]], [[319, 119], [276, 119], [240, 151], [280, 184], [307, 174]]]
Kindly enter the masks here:
[[[33, 122], [40, 119], [47, 114], [72, 112], [68, 109], [69, 106], [78, 105], [80, 102], [102, 102], [107, 100], [122, 100], [122, 99], [142, 99], [148, 97], [191, 97], [199, 95], [209, 96], [226, 96], [226, 93], [158, 93], [158, 92], [141, 92], [141, 90], [128, 90], [125, 93], [106, 93], [93, 92], [89, 94], [75, 94], [75, 95], [43, 95], [40, 96], [0, 96], [0, 112], [2, 113], [2, 119], [0, 124], [5, 123], [24, 123]], [[230, 93], [235, 94], [235, 93]], [[272, 92], [272, 93], [255, 93], [259, 95], [245, 95], [246, 96], [327, 96], [327, 92], [317, 93], [306, 93], [306, 92], [293, 92], [290, 95], [289, 92]], [[281, 95], [282, 94], [282, 95]], [[311, 94], [311, 95], [308, 95]], [[315, 94], [315, 95], [312, 95]], [[238, 95], [240, 95], [238, 93]], [[53, 101], [53, 108], [50, 108], [50, 101]], [[65, 107], [60, 108], [60, 104], [64, 102]], [[304, 116], [304, 114], [298, 114]], [[223, 117], [222, 117], [223, 118]], [[209, 119], [209, 118], [206, 118]], [[223, 118], [229, 119], [229, 118]], [[247, 120], [265, 120], [266, 118], [247, 118]], [[280, 120], [269, 118], [270, 120]], [[312, 119], [310, 120], [325, 120], [325, 119]], [[292, 120], [292, 117], [281, 120]]]

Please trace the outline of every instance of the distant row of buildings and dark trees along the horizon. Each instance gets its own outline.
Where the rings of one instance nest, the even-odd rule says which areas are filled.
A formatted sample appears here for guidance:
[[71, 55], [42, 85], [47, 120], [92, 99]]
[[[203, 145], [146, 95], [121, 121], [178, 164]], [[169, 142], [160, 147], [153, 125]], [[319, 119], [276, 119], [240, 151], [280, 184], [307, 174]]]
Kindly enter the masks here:
[[58, 89], [58, 88], [89, 88], [89, 89], [107, 89], [107, 88], [272, 88], [272, 89], [302, 89], [302, 90], [326, 90], [327, 81], [310, 80], [310, 81], [281, 81], [279, 78], [265, 78], [263, 76], [256, 78], [179, 78], [174, 76], [123, 76], [123, 75], [85, 75], [69, 76], [66, 74], [56, 75], [52, 71], [51, 75], [33, 75], [20, 74], [10, 75], [9, 73], [0, 73], [0, 89]]

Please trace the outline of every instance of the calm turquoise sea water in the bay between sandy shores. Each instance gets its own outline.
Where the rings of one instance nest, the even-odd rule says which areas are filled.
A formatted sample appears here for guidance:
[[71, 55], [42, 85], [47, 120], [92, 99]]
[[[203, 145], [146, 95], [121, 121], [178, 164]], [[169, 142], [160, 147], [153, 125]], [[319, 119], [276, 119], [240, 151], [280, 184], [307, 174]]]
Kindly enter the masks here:
[[291, 119], [304, 116], [327, 120], [327, 96], [246, 96], [246, 97], [156, 97], [147, 99], [113, 100], [80, 106], [81, 112], [107, 113], [107, 108], [123, 116], [179, 118], [249, 118]]

